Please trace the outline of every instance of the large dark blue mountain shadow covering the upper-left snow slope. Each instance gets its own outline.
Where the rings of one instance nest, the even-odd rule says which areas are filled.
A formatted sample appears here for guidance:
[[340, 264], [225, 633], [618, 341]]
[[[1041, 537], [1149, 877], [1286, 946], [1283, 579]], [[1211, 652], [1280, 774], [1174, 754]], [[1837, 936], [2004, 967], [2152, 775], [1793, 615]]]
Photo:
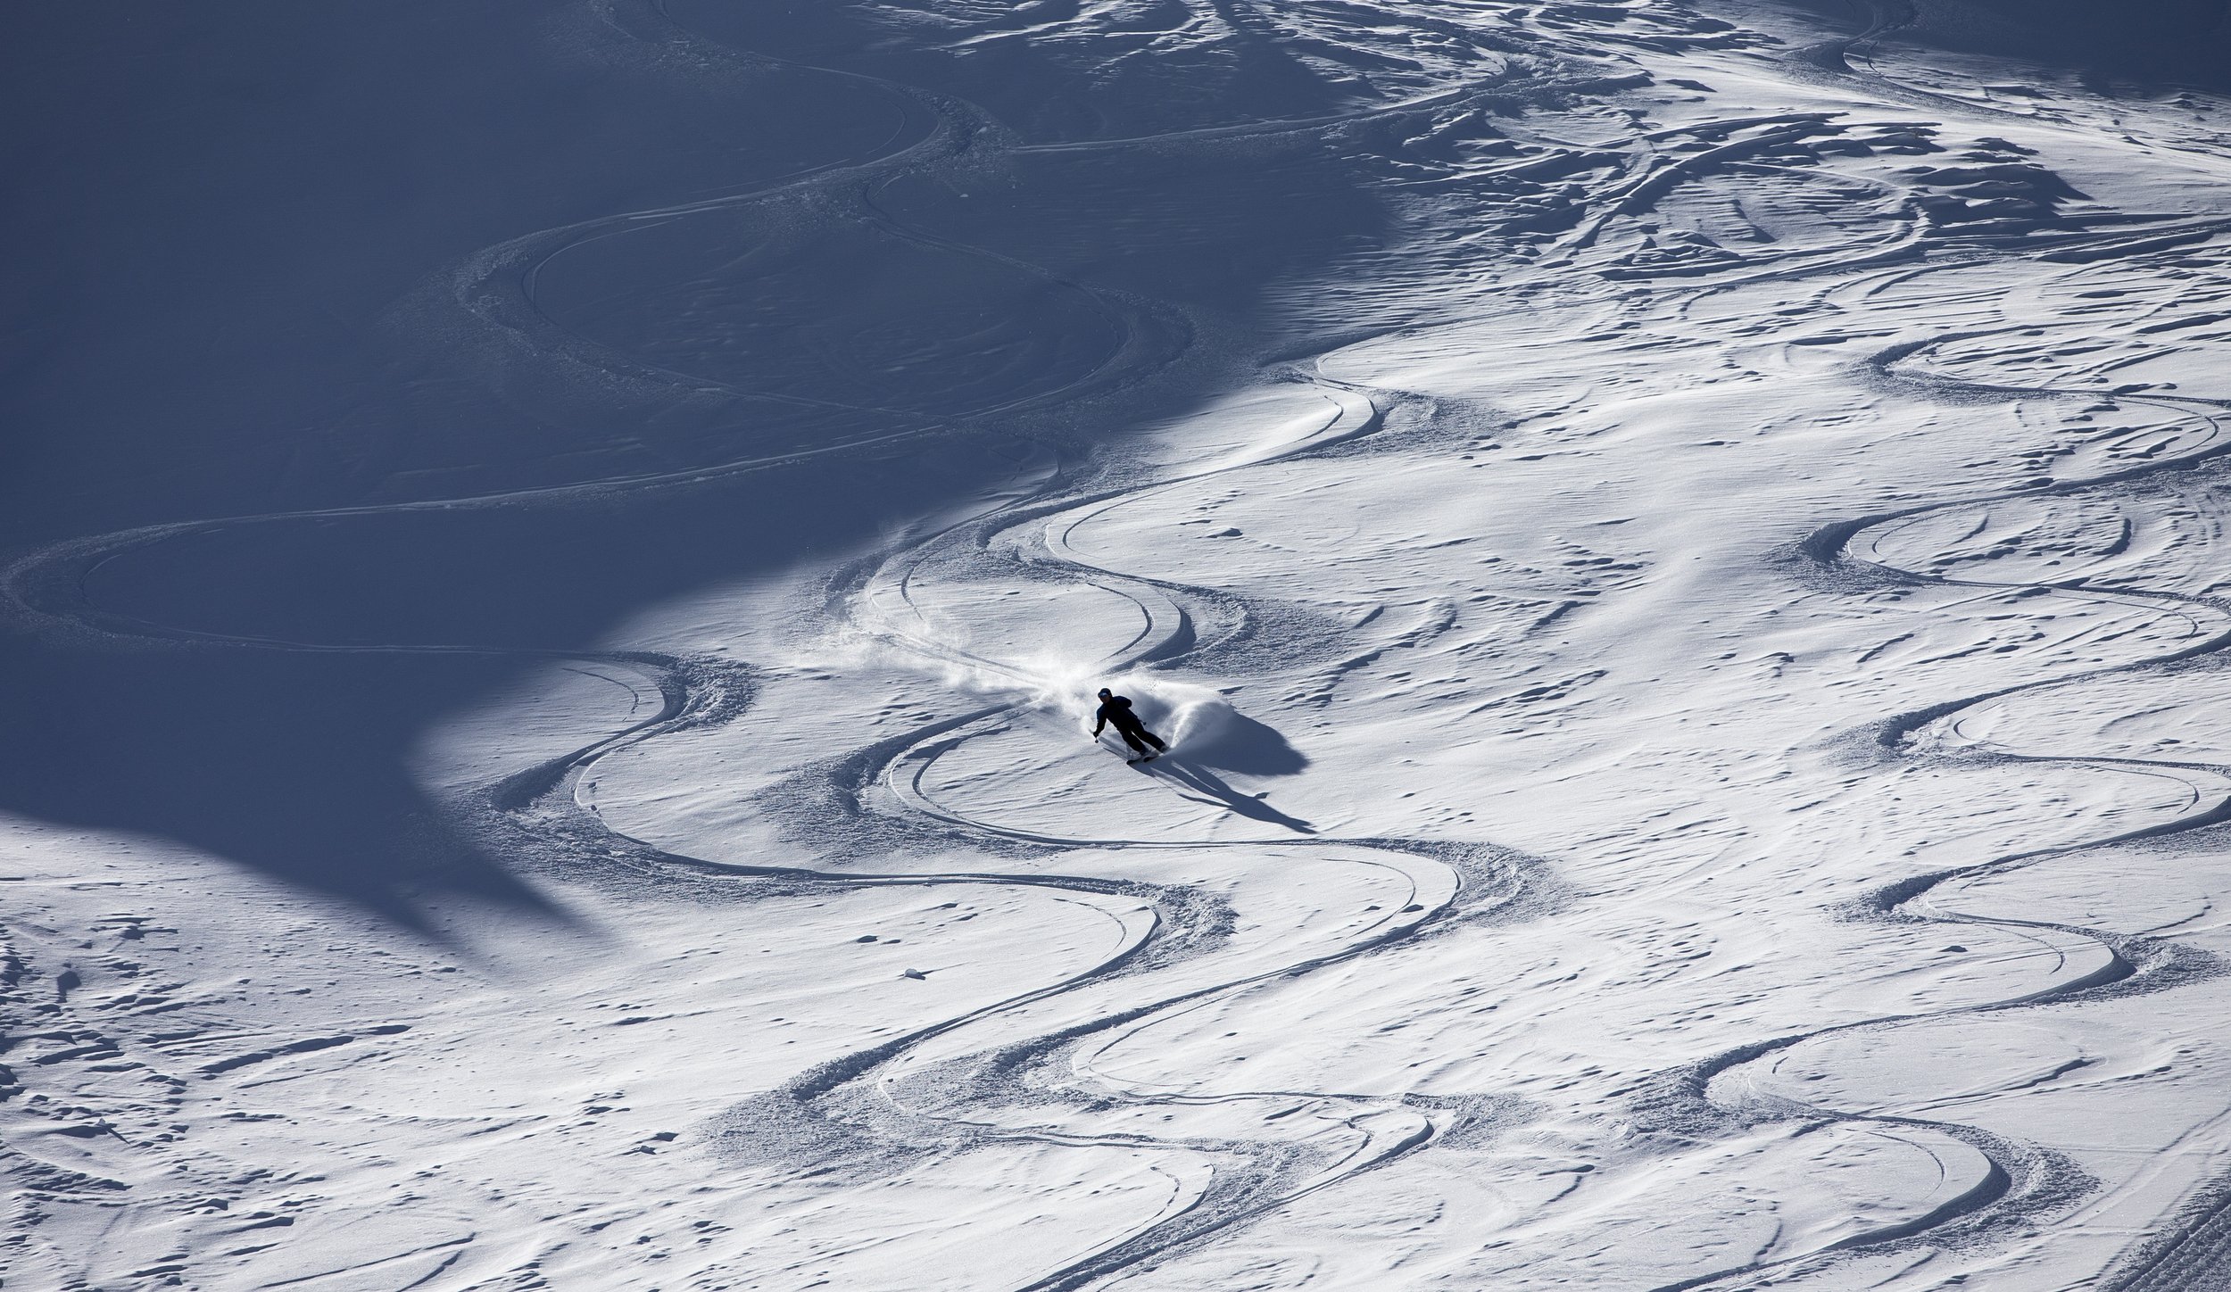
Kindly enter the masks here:
[[[868, 58], [888, 33], [848, 31], [837, 7], [745, 9], [727, 38], [957, 94], [997, 80]], [[1075, 455], [1198, 406], [1249, 373], [1269, 288], [1390, 225], [1354, 136], [1285, 132], [973, 147], [950, 174], [924, 161], [781, 219], [705, 208], [460, 270], [538, 230], [859, 163], [924, 129], [919, 105], [868, 80], [723, 67], [676, 40], [651, 4], [540, 0], [0, 13], [0, 245], [18, 248], [0, 259], [0, 330], [22, 341], [0, 370], [9, 553], [915, 437], [701, 484], [254, 522], [116, 556], [85, 587], [116, 614], [491, 654], [0, 627], [0, 810], [178, 839], [402, 922], [444, 890], [531, 906], [518, 857], [408, 770], [444, 714], [540, 667], [502, 649], [580, 649], [692, 589], [839, 560], [999, 482], [1024, 433]], [[1223, 100], [1124, 94], [1153, 129], [1343, 100], [1276, 49], [1247, 58]], [[1129, 125], [1089, 69], [1015, 85], [1037, 136]], [[1008, 397], [1042, 413], [997, 413]], [[1245, 730], [1225, 756], [1278, 763]], [[1267, 810], [1209, 768], [1196, 790]]]

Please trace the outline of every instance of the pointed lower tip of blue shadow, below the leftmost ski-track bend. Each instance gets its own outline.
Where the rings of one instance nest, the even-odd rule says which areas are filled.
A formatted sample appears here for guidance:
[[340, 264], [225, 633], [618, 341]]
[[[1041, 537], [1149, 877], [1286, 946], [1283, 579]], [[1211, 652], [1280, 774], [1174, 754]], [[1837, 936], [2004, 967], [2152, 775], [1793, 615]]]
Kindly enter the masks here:
[[542, 908], [406, 774], [428, 705], [500, 685], [493, 656], [0, 649], [0, 803], [163, 835], [422, 926], [417, 895]]

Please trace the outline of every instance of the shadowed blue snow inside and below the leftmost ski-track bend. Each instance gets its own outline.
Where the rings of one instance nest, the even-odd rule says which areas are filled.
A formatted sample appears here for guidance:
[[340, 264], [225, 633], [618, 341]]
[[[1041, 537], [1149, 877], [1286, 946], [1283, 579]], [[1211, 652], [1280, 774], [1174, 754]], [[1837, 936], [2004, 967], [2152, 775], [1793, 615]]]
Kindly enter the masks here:
[[[419, 901], [442, 893], [542, 908], [513, 877], [527, 839], [491, 837], [413, 779], [428, 727], [544, 667], [540, 652], [598, 640], [636, 598], [774, 553], [834, 560], [861, 524], [908, 520], [908, 489], [941, 498], [1008, 469], [957, 446], [665, 489], [656, 507], [274, 520], [120, 551], [83, 580], [100, 611], [359, 649], [0, 636], [0, 808], [172, 837], [422, 928]], [[843, 491], [875, 502], [825, 504]]]

